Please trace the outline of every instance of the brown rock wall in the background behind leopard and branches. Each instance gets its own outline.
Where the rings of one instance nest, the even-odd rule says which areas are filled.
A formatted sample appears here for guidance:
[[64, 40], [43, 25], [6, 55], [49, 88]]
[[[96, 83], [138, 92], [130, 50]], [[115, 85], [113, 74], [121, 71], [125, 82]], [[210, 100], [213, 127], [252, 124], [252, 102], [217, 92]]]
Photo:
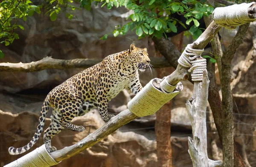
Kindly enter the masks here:
[[[129, 48], [131, 43], [137, 47], [147, 47], [150, 57], [156, 55], [154, 43], [150, 39], [137, 40], [135, 32], [125, 37], [109, 36], [114, 26], [126, 23], [130, 11], [119, 8], [108, 10], [92, 6], [90, 12], [76, 10], [77, 18], [67, 20], [59, 15], [54, 22], [43, 14], [35, 14], [25, 22], [20, 21], [24, 31], [18, 31], [20, 40], [5, 47], [0, 45], [5, 57], [0, 62], [28, 63], [41, 60], [46, 56], [57, 59], [104, 58], [115, 52]], [[227, 47], [236, 34], [236, 30], [220, 31], [223, 47]], [[235, 141], [248, 167], [256, 166], [256, 23], [252, 23], [243, 43], [239, 46], [233, 60], [233, 80], [231, 86], [234, 96]], [[175, 37], [173, 37], [175, 40]], [[184, 37], [183, 45], [191, 43]], [[9, 155], [10, 146], [21, 147], [32, 138], [38, 123], [39, 112], [47, 93], [82, 69], [47, 69], [40, 72], [0, 72], [0, 166], [19, 158], [20, 155]], [[145, 85], [156, 77], [153, 71], [140, 75]], [[218, 80], [218, 71], [216, 71]], [[190, 98], [193, 85], [183, 82], [184, 89], [172, 100], [172, 163], [174, 167], [192, 167], [188, 154], [187, 137], [192, 135], [185, 103]], [[127, 108], [126, 104], [133, 97], [128, 90], [121, 92], [108, 106], [109, 112], [119, 113]], [[48, 114], [49, 118], [50, 113]], [[209, 108], [208, 152], [209, 158], [221, 160], [221, 146], [214, 121]], [[155, 167], [157, 163], [156, 141], [154, 132], [155, 115], [138, 118], [109, 135], [93, 147], [61, 162], [57, 167]], [[47, 119], [45, 129], [50, 123]], [[86, 127], [84, 132], [63, 130], [52, 140], [57, 149], [70, 146], [104, 122], [94, 109], [88, 114], [77, 117], [74, 124]], [[44, 144], [43, 135], [31, 150]], [[31, 151], [30, 150], [30, 151]]]

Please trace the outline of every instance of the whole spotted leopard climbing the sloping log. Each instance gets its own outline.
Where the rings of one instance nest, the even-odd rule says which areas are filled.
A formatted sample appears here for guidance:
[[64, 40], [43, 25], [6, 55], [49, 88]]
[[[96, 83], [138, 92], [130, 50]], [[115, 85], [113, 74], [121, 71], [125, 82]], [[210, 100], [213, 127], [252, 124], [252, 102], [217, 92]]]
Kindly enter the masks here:
[[115, 116], [108, 114], [108, 102], [125, 88], [135, 95], [140, 92], [143, 86], [138, 71], [143, 72], [150, 66], [147, 48], [131, 44], [128, 50], [108, 55], [102, 62], [67, 79], [52, 89], [44, 99], [32, 140], [20, 148], [9, 147], [9, 154], [24, 153], [38, 141], [50, 107], [51, 123], [44, 131], [44, 144], [49, 153], [57, 150], [51, 145], [52, 137], [64, 128], [76, 132], [85, 130], [83, 126], [72, 124], [73, 118], [98, 107], [101, 118], [108, 122]]

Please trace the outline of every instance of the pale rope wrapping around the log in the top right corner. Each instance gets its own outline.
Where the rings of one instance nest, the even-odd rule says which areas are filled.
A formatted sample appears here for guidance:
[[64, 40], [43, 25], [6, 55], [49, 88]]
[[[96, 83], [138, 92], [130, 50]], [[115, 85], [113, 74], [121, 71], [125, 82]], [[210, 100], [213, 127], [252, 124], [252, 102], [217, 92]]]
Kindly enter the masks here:
[[255, 2], [216, 8], [212, 12], [213, 20], [227, 29], [235, 29], [236, 26], [256, 20], [248, 15], [248, 8], [253, 4]]

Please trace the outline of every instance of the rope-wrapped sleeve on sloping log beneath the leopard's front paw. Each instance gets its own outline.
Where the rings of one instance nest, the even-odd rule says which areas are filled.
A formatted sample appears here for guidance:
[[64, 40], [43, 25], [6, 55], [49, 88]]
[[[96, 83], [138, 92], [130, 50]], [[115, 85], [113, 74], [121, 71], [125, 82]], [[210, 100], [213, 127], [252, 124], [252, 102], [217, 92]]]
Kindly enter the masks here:
[[[160, 83], [160, 90], [153, 85], [153, 82], [160, 83], [161, 79], [152, 79], [128, 102], [128, 109], [138, 117], [154, 114], [183, 89], [181, 82], [172, 86], [166, 81], [166, 78], [163, 78], [163, 81]], [[175, 91], [173, 91], [174, 89]], [[143, 98], [141, 98], [142, 96]]]

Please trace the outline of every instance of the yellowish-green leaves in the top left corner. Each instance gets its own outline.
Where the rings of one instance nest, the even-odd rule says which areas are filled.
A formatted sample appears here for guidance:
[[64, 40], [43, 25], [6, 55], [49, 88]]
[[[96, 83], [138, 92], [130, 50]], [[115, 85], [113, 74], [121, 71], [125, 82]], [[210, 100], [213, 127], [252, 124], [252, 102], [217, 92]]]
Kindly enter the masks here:
[[[47, 0], [41, 4], [35, 5], [30, 0], [3, 0], [0, 2], [0, 43], [8, 46], [15, 39], [19, 39], [19, 35], [15, 33], [15, 29], [24, 29], [18, 23], [18, 20], [26, 21], [27, 17], [33, 16], [35, 13], [41, 14], [42, 8], [47, 12], [52, 21], [56, 20], [57, 14], [66, 9], [66, 17], [73, 18], [68, 11], [75, 10], [72, 0]], [[0, 50], [0, 58], [3, 58], [3, 52]]]

